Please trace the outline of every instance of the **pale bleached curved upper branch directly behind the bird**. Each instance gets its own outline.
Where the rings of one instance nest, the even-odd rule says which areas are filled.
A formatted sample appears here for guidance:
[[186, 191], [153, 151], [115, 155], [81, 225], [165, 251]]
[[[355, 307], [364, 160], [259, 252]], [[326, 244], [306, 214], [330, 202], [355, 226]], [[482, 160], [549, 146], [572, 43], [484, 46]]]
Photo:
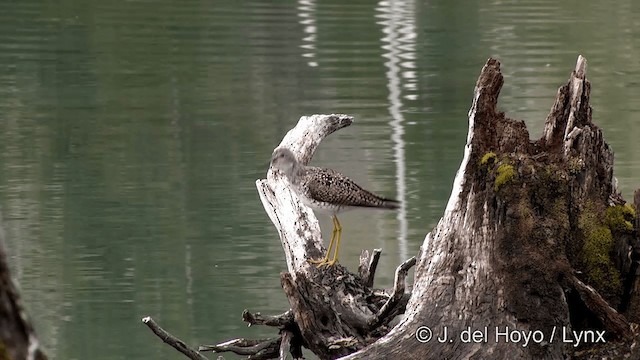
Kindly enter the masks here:
[[[290, 149], [298, 161], [307, 164], [322, 139], [352, 121], [347, 115], [303, 116], [278, 147]], [[280, 234], [287, 268], [295, 278], [296, 270], [304, 271], [310, 266], [308, 259], [323, 254], [318, 220], [291, 192], [286, 177], [280, 172], [269, 169], [267, 179], [257, 180], [256, 187], [267, 215]]]

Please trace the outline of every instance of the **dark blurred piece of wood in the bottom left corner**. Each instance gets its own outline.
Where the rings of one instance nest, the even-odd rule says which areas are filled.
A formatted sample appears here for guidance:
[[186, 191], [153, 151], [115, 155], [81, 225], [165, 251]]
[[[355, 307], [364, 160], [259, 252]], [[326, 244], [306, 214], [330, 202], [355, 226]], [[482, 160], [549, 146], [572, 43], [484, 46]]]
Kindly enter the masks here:
[[3, 235], [0, 225], [0, 359], [46, 360], [11, 278]]

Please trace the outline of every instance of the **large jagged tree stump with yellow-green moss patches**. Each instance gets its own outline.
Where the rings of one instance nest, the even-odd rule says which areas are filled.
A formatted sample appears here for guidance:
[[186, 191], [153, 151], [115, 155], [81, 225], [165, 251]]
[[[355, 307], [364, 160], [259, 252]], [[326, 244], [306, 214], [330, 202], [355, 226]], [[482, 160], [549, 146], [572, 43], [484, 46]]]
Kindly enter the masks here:
[[[453, 192], [421, 247], [405, 317], [349, 359], [563, 359], [576, 349], [575, 339], [563, 341], [572, 331], [600, 331], [605, 345], [632, 351], [620, 299], [627, 297], [627, 311], [637, 308], [636, 214], [617, 192], [585, 75], [580, 56], [542, 137], [530, 141], [524, 122], [497, 110], [503, 77], [489, 59]], [[420, 326], [433, 332], [430, 341], [417, 341]], [[461, 338], [475, 330], [486, 337]], [[542, 341], [523, 346], [523, 336], [501, 335], [513, 331], [539, 331]], [[594, 342], [578, 349], [603, 345]]]

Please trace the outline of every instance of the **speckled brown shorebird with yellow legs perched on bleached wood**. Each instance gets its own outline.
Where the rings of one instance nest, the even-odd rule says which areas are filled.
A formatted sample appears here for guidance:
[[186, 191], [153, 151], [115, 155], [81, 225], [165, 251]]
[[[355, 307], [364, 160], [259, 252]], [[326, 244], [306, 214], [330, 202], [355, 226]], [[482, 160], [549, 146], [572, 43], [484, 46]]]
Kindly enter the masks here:
[[[353, 208], [397, 209], [400, 206], [398, 201], [373, 194], [335, 170], [299, 163], [287, 148], [277, 148], [273, 152], [271, 166], [284, 173], [303, 204], [331, 215], [333, 231], [327, 255], [321, 260], [308, 260], [312, 264], [317, 264], [317, 267], [333, 266], [338, 261], [342, 237], [342, 226], [338, 220], [339, 212]], [[334, 245], [335, 252], [333, 258], [329, 260]]]

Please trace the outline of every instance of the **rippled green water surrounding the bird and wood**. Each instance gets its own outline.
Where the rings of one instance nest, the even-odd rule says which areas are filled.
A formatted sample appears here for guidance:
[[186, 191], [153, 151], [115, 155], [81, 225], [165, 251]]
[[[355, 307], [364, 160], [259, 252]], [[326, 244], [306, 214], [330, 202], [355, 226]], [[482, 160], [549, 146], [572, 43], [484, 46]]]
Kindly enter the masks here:
[[342, 216], [342, 263], [382, 247], [390, 286], [442, 215], [490, 56], [532, 137], [587, 57], [630, 199], [639, 18], [633, 1], [0, 1], [2, 224], [47, 353], [183, 358], [145, 315], [191, 345], [275, 335], [240, 319], [288, 307], [254, 182], [305, 114], [356, 118], [313, 164], [407, 205]]

